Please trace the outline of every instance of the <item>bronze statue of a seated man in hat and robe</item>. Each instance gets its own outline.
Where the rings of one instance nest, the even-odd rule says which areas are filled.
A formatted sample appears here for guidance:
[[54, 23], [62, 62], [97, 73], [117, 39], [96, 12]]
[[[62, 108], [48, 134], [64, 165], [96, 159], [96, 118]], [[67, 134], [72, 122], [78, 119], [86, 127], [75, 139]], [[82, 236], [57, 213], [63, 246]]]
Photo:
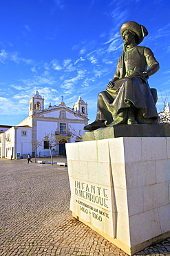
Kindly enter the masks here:
[[85, 130], [158, 122], [156, 100], [147, 80], [158, 71], [159, 63], [149, 48], [138, 46], [148, 35], [147, 29], [134, 21], [127, 21], [121, 26], [120, 35], [124, 48], [114, 79], [107, 84], [105, 91], [98, 94], [96, 120], [85, 126]]

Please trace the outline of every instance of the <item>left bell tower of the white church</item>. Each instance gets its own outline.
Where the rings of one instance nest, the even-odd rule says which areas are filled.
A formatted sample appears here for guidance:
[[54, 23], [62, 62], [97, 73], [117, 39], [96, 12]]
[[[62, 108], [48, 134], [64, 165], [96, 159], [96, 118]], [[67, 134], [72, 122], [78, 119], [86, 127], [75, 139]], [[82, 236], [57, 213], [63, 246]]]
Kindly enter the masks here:
[[29, 116], [32, 116], [35, 113], [40, 113], [44, 110], [44, 98], [39, 95], [38, 90], [36, 90], [35, 95], [30, 98], [29, 102]]

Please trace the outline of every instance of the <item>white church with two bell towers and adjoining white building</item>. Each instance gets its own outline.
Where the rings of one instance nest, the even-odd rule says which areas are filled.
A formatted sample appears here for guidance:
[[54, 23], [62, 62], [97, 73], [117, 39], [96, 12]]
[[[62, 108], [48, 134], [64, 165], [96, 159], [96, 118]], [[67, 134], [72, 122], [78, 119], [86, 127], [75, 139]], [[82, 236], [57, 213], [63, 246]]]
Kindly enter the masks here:
[[[65, 156], [65, 143], [74, 143], [81, 140], [83, 127], [87, 125], [87, 103], [81, 96], [72, 108], [65, 102], [59, 106], [50, 106], [44, 109], [44, 98], [36, 90], [30, 98], [29, 116], [17, 126], [0, 125], [0, 158], [27, 158], [50, 156], [47, 134], [54, 134], [56, 146], [52, 149], [54, 156]], [[41, 146], [35, 150], [35, 143]]]

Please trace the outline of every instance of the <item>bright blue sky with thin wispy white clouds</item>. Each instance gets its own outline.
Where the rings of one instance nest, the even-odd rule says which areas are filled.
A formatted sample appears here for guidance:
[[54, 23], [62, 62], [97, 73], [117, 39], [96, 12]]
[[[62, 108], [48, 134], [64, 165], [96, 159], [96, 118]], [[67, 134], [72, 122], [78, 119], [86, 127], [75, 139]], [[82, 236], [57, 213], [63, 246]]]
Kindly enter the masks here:
[[0, 125], [26, 118], [36, 89], [46, 108], [58, 105], [61, 95], [72, 107], [81, 93], [92, 122], [97, 95], [123, 50], [119, 29], [125, 21], [149, 31], [140, 46], [160, 62], [149, 85], [158, 90], [162, 109], [170, 89], [169, 0], [0, 0], [0, 7]]

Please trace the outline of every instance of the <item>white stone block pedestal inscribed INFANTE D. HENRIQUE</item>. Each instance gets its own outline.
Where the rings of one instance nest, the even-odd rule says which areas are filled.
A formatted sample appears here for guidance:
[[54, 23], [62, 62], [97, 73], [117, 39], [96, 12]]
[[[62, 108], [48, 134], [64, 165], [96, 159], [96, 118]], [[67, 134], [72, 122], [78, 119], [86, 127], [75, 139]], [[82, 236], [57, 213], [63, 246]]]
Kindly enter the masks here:
[[170, 236], [170, 138], [66, 144], [73, 216], [129, 255]]

